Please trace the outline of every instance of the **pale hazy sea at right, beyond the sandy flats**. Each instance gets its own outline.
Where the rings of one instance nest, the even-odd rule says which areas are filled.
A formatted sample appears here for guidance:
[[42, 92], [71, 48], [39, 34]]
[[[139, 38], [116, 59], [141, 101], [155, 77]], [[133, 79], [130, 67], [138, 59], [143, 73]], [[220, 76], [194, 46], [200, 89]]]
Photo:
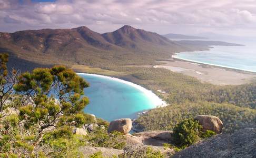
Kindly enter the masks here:
[[245, 46], [213, 46], [210, 51], [181, 52], [173, 55], [186, 61], [256, 72], [256, 41], [232, 41]]

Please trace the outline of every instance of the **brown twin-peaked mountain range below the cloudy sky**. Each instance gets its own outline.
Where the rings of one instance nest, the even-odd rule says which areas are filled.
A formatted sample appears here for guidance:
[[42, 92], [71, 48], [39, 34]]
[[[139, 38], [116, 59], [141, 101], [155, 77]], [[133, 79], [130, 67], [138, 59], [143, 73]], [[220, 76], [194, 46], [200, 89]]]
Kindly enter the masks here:
[[208, 44], [171, 41], [128, 25], [103, 34], [85, 26], [0, 33], [0, 53], [9, 53], [9, 67], [22, 71], [56, 64], [104, 68], [153, 64], [155, 60], [170, 58], [174, 52], [205, 50]]

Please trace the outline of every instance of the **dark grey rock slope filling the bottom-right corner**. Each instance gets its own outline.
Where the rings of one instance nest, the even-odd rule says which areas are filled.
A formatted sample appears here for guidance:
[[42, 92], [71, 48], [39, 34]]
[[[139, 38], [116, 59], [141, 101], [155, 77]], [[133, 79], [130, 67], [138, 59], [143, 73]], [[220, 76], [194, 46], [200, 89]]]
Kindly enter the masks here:
[[173, 156], [178, 157], [256, 157], [256, 128], [215, 135]]

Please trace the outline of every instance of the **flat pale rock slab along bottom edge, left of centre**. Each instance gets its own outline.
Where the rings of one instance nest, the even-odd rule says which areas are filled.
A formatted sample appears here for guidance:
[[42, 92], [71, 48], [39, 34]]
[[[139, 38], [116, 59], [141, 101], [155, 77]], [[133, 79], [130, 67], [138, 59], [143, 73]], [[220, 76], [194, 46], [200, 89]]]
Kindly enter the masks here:
[[122, 150], [118, 150], [118, 149], [108, 149], [105, 147], [91, 147], [91, 146], [83, 146], [80, 148], [80, 151], [84, 154], [84, 157], [93, 155], [96, 152], [102, 152], [103, 157], [118, 156], [119, 154], [123, 153]]

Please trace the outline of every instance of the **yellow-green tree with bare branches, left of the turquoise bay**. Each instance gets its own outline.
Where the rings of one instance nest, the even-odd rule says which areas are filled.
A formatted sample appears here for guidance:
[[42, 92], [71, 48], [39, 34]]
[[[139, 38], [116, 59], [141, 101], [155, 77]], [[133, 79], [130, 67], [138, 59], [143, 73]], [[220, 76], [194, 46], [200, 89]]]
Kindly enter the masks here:
[[[19, 94], [31, 97], [33, 104], [19, 108], [19, 117], [25, 120], [25, 127], [38, 124], [41, 131], [54, 125], [80, 126], [86, 122], [82, 110], [88, 98], [82, 95], [87, 86], [82, 77], [64, 66], [23, 73], [14, 88]], [[53, 92], [58, 102], [51, 96]]]

